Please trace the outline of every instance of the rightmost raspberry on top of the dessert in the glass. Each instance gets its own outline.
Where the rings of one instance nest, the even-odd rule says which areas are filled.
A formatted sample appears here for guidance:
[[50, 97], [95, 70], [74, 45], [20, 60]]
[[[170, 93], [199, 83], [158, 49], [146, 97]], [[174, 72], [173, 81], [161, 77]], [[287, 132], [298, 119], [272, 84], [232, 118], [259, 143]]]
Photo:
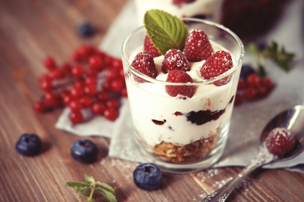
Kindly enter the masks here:
[[[217, 51], [203, 63], [201, 76], [205, 79], [214, 78], [225, 73], [233, 67], [232, 58], [229, 52], [224, 50]], [[214, 84], [221, 86], [227, 83], [227, 79], [223, 78]]]

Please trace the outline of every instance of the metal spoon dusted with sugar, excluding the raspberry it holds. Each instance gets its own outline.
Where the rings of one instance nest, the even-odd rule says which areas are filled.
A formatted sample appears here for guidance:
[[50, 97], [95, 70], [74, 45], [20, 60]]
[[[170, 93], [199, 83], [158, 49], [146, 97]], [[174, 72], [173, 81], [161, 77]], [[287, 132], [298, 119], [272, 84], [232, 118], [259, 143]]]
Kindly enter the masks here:
[[[275, 156], [268, 152], [265, 139], [276, 127], [285, 127], [291, 131], [296, 140], [293, 150], [283, 156]], [[259, 138], [259, 152], [253, 160], [241, 170], [232, 180], [208, 195], [201, 202], [224, 202], [237, 184], [255, 169], [276, 161], [287, 160], [300, 154], [304, 149], [304, 106], [298, 105], [277, 114], [264, 127]]]

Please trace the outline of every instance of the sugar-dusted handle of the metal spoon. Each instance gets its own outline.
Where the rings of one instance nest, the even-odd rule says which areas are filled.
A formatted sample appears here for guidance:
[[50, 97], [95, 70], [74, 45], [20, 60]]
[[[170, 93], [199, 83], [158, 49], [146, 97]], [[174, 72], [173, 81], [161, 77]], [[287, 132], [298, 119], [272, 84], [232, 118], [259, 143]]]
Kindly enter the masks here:
[[227, 182], [225, 185], [220, 187], [215, 192], [208, 195], [203, 201], [201, 202], [224, 202], [226, 198], [229, 196], [229, 194], [232, 192], [232, 190], [237, 186], [237, 184], [244, 179], [246, 175], [248, 175], [250, 172], [254, 171], [258, 167], [265, 164], [265, 161], [268, 161], [268, 159], [261, 160], [260, 156], [256, 156], [253, 158], [253, 160], [245, 167], [243, 170], [241, 170], [232, 180]]

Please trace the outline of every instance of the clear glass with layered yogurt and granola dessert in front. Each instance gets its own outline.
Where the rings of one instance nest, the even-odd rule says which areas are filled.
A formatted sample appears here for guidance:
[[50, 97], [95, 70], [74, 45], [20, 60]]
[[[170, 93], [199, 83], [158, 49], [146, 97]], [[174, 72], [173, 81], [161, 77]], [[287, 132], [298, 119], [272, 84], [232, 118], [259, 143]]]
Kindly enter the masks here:
[[[237, 83], [244, 56], [240, 39], [217, 23], [183, 18], [188, 30], [206, 33], [213, 49], [229, 52], [233, 67], [218, 77], [203, 79], [196, 70], [203, 62], [189, 62], [194, 82], [173, 83], [160, 74], [151, 78], [131, 64], [143, 49], [144, 27], [132, 32], [121, 50], [136, 144], [149, 162], [167, 172], [199, 171], [217, 162], [228, 137]], [[154, 58], [158, 72], [164, 56]], [[218, 84], [221, 81], [224, 84]], [[193, 96], [171, 96], [167, 86], [195, 89]]]

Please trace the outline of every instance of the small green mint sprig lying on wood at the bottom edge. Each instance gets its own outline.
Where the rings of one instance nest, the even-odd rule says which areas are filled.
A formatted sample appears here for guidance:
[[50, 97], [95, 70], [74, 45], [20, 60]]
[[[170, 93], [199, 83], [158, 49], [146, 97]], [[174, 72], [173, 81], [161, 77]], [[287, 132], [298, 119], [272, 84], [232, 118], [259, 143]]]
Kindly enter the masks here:
[[115, 190], [112, 186], [100, 181], [96, 182], [90, 175], [84, 174], [84, 178], [87, 180], [86, 182], [67, 182], [64, 187], [77, 188], [76, 192], [87, 198], [84, 202], [94, 202], [93, 200], [96, 199], [95, 191], [100, 192], [109, 202], [117, 202]]

